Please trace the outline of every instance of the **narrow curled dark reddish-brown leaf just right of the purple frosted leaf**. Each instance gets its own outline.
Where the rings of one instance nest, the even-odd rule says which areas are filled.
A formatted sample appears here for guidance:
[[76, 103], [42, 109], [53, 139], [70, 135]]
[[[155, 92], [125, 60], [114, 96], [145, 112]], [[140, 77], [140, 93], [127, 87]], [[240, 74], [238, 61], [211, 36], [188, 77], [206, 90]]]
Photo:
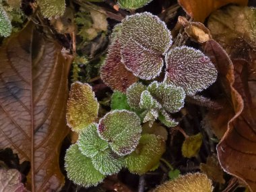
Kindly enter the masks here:
[[218, 82], [224, 96], [220, 98], [224, 104], [220, 110], [211, 110], [204, 123], [210, 124], [215, 135], [222, 138], [228, 129], [228, 122], [240, 115], [243, 110], [243, 99], [233, 88], [234, 67], [232, 61], [215, 40], [209, 40], [205, 44], [205, 55], [210, 57], [218, 70]]

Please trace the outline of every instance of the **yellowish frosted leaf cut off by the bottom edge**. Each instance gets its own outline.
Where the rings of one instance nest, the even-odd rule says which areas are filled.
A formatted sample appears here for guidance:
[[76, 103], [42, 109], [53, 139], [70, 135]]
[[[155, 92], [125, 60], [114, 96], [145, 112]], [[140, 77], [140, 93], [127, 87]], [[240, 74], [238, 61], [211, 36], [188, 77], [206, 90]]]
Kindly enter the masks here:
[[167, 181], [155, 189], [154, 192], [211, 192], [213, 191], [212, 181], [207, 178], [206, 174], [189, 173], [181, 175], [177, 179]]

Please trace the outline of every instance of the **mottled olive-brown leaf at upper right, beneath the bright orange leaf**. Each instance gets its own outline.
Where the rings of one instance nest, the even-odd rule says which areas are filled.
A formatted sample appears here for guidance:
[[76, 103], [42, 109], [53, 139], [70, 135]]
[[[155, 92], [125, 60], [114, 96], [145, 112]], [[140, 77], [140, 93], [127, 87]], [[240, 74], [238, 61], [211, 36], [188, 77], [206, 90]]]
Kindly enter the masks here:
[[212, 13], [208, 26], [232, 59], [249, 59], [249, 52], [256, 46], [255, 20], [255, 7], [228, 6]]

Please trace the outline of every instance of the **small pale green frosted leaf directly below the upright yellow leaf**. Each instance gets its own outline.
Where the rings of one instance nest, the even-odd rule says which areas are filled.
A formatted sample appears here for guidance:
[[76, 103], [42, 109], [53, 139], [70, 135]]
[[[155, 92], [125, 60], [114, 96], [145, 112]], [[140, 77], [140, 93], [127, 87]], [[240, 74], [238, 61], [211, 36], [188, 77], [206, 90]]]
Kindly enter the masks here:
[[93, 123], [79, 133], [77, 146], [84, 156], [93, 158], [108, 148], [108, 142], [99, 137], [97, 125]]

